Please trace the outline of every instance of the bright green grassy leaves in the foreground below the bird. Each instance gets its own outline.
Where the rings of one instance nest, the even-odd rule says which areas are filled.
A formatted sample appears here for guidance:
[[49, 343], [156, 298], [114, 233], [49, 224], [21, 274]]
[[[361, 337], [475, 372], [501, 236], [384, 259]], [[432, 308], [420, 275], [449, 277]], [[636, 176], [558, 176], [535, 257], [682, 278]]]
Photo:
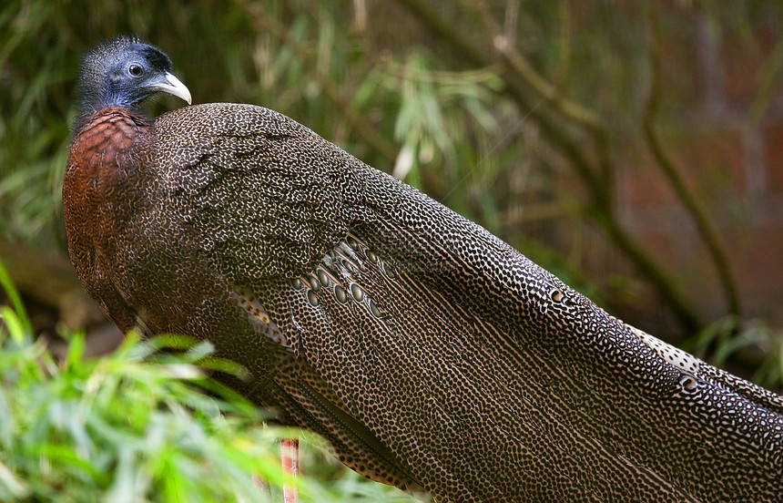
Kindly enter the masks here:
[[[2, 268], [0, 284], [10, 288]], [[13, 307], [0, 307], [0, 500], [282, 500], [290, 477], [278, 440], [301, 434], [263, 426], [254, 405], [206, 377], [198, 367], [208, 362], [208, 343], [131, 335], [114, 354], [86, 359], [83, 334], [64, 334], [69, 349], [57, 363], [8, 292]], [[180, 353], [156, 355], [160, 348]], [[302, 438], [303, 501], [414, 501], [338, 469], [320, 440]]]

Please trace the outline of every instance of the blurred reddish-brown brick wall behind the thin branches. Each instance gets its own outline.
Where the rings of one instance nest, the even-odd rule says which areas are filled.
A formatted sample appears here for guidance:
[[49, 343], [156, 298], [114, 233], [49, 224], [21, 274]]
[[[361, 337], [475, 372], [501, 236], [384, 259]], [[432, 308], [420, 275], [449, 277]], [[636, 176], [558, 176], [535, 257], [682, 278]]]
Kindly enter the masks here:
[[[757, 10], [751, 36], [697, 12], [664, 20], [672, 50], [664, 61], [665, 111], [658, 125], [717, 226], [746, 315], [780, 326], [783, 78], [779, 71], [769, 76], [776, 58], [783, 61], [783, 26], [779, 6]], [[758, 117], [756, 107], [763, 110]], [[620, 156], [625, 169], [617, 193], [625, 225], [666, 261], [703, 313], [719, 318], [727, 312], [724, 296], [692, 219], [646, 149], [630, 145]]]

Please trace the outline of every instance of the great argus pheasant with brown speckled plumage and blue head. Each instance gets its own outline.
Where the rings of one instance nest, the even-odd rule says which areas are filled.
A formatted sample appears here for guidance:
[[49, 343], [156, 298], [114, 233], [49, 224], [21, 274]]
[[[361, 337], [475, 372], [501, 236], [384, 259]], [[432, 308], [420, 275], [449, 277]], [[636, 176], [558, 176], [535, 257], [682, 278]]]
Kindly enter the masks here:
[[775, 501], [783, 399], [641, 332], [482, 227], [267, 108], [190, 101], [158, 48], [84, 61], [71, 259], [123, 331], [366, 477], [436, 501]]

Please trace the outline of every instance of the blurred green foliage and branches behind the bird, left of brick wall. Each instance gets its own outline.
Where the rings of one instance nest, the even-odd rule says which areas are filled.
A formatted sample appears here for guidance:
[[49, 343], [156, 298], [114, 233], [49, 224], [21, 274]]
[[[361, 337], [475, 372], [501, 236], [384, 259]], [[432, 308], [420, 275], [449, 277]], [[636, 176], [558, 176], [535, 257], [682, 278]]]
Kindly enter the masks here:
[[[79, 61], [102, 39], [135, 35], [171, 56], [196, 103], [279, 110], [482, 224], [613, 312], [639, 315], [658, 333], [685, 333], [714, 361], [763, 347], [763, 368], [779, 376], [778, 331], [729, 344], [743, 330], [738, 307], [706, 320], [700, 299], [678, 286], [681, 272], [625, 229], [615, 190], [618, 171], [640, 159], [653, 165], [641, 132], [651, 54], [666, 56], [659, 77], [672, 92], [657, 97], [666, 111], [701, 91], [692, 60], [672, 45], [728, 36], [727, 50], [760, 58], [777, 44], [748, 119], [758, 121], [783, 67], [783, 43], [758, 27], [780, 16], [775, 3], [728, 0], [7, 0], [0, 238], [65, 251], [59, 191]], [[656, 46], [658, 32], [669, 46]], [[149, 111], [179, 106], [162, 98]], [[719, 286], [727, 297], [736, 291], [730, 274]], [[721, 323], [733, 327], [725, 337], [715, 335]]]

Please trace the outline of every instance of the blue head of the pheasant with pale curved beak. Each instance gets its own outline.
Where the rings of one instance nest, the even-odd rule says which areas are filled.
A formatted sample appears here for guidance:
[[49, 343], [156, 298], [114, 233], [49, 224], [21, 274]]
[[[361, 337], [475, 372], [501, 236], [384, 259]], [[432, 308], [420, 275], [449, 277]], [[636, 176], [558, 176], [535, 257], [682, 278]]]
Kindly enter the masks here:
[[106, 107], [138, 111], [158, 93], [190, 104], [190, 91], [171, 73], [171, 59], [158, 47], [125, 36], [108, 40], [90, 51], [79, 77], [82, 115]]

